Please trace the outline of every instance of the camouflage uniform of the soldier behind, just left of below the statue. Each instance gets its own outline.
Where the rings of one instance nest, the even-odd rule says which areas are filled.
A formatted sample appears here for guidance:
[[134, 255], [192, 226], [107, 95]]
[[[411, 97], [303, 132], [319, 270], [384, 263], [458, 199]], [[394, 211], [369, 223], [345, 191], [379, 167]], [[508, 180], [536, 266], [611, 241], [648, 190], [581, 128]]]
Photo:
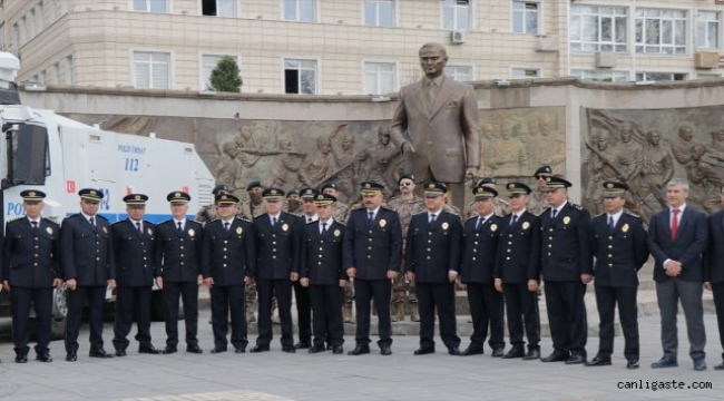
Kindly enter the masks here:
[[[420, 321], [418, 313], [418, 297], [414, 294], [414, 283], [405, 283], [404, 280], [404, 246], [407, 243], [408, 227], [410, 219], [413, 215], [425, 211], [424, 203], [421, 197], [414, 196], [410, 200], [404, 200], [402, 197], [390, 199], [388, 205], [391, 209], [397, 211], [400, 215], [400, 224], [402, 225], [402, 260], [400, 261], [401, 274], [398, 275], [394, 285], [392, 286], [392, 320], [394, 322], [404, 320], [404, 304], [405, 301], [410, 304], [410, 315], [413, 322]], [[405, 300], [405, 292], [408, 293]]]

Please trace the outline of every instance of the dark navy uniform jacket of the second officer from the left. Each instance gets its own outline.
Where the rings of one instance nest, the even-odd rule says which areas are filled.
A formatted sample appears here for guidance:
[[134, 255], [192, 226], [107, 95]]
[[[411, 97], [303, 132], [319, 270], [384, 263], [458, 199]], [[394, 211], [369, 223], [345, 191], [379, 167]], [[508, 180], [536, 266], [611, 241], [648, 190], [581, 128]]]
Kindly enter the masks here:
[[80, 213], [67, 217], [60, 226], [60, 263], [63, 278], [78, 285], [107, 285], [116, 278], [110, 225], [95, 216], [96, 227]]

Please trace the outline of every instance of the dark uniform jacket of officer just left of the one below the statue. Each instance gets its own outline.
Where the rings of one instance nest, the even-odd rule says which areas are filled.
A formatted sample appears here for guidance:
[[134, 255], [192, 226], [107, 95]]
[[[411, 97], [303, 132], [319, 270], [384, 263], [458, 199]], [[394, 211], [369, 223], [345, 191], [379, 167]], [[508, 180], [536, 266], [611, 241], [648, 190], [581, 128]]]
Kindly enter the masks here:
[[344, 268], [355, 267], [361, 280], [387, 280], [388, 271], [400, 271], [402, 226], [397, 212], [380, 207], [372, 224], [368, 209], [350, 213], [344, 233]]

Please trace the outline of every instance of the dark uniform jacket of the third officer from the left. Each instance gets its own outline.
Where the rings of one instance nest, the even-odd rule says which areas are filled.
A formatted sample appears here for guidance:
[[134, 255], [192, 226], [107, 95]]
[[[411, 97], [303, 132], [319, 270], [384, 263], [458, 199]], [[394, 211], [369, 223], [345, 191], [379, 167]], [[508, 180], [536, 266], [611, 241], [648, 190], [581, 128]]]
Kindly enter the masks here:
[[116, 258], [116, 285], [119, 287], [153, 286], [156, 268], [154, 243], [156, 225], [144, 221], [143, 233], [126, 218], [110, 226]]

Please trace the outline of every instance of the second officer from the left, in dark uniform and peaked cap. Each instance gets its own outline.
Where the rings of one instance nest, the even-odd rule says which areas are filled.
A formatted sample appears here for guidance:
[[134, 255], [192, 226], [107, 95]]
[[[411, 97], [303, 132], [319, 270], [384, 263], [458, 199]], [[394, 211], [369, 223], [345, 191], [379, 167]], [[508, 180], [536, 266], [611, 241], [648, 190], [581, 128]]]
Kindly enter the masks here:
[[70, 293], [68, 295], [68, 322], [66, 329], [66, 361], [78, 360], [78, 333], [84, 303], [88, 303], [91, 358], [112, 358], [104, 350], [104, 304], [106, 290], [116, 287], [116, 262], [114, 260], [110, 226], [99, 216], [98, 204], [104, 194], [84, 188], [80, 213], [67, 217], [60, 227], [60, 263]]

